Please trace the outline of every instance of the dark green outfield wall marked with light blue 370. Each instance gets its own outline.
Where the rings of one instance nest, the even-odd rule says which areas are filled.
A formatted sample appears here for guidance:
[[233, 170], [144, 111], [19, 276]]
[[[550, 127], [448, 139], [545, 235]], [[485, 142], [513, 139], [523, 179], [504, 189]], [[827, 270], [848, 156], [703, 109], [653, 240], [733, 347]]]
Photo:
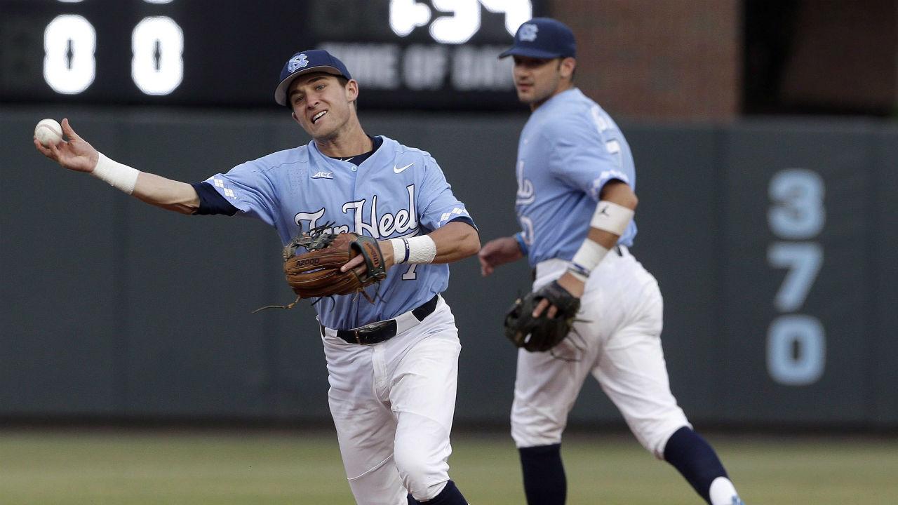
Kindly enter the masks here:
[[[183, 217], [67, 173], [31, 146], [65, 114], [107, 155], [197, 182], [304, 143], [285, 113], [0, 109], [5, 212], [0, 418], [326, 421], [313, 312], [280, 244], [242, 217]], [[374, 114], [430, 151], [486, 242], [516, 230], [524, 115]], [[665, 295], [665, 354], [692, 421], [898, 427], [898, 126], [622, 124], [636, 157], [633, 253]], [[501, 318], [530, 272], [453, 265], [458, 421], [503, 422], [515, 352]], [[620, 417], [586, 385], [572, 421]]]

